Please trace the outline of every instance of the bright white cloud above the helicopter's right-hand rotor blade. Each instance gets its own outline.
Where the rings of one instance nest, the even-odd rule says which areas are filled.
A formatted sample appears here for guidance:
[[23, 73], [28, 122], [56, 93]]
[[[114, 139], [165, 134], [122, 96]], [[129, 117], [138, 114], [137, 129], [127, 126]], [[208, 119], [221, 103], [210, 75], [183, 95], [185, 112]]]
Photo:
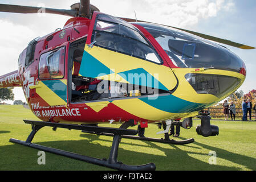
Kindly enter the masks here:
[[231, 11], [233, 0], [130, 0], [91, 1], [107, 14], [135, 18], [177, 27], [188, 27], [200, 19], [217, 16], [221, 11]]

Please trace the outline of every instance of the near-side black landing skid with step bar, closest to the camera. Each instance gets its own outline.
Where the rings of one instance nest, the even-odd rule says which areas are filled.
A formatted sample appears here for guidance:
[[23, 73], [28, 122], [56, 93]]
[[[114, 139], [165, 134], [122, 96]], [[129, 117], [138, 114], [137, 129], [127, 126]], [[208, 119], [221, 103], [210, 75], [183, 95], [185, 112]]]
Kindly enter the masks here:
[[[121, 135], [136, 135], [138, 133], [137, 130], [128, 130], [126, 129], [131, 125], [132, 122], [125, 122], [119, 129], [109, 128], [109, 127], [95, 127], [95, 126], [82, 126], [82, 125], [68, 125], [63, 123], [52, 123], [52, 122], [42, 122], [42, 121], [28, 121], [24, 120], [25, 123], [32, 125], [32, 131], [27, 137], [26, 141], [18, 140], [11, 138], [10, 142], [22, 144], [27, 147], [36, 148], [38, 150], [51, 152], [53, 154], [66, 156], [68, 158], [76, 159], [76, 160], [82, 160], [87, 163], [96, 164], [99, 166], [104, 166], [112, 169], [117, 169], [121, 171], [155, 171], [156, 166], [154, 163], [148, 163], [140, 166], [131, 166], [123, 164], [119, 161], [117, 161], [117, 155], [118, 155], [118, 148], [119, 143], [121, 141]], [[64, 129], [74, 129], [74, 130], [86, 130], [86, 131], [92, 131], [92, 132], [107, 132], [113, 134], [113, 143], [112, 148], [109, 154], [108, 159], [97, 159], [92, 158], [90, 156], [84, 156], [80, 154], [75, 154], [73, 152], [63, 151], [56, 148], [41, 146], [39, 144], [31, 143], [32, 139], [34, 138], [37, 131], [42, 129], [44, 126], [50, 126], [53, 127], [54, 130], [56, 130], [57, 127], [64, 128]]]

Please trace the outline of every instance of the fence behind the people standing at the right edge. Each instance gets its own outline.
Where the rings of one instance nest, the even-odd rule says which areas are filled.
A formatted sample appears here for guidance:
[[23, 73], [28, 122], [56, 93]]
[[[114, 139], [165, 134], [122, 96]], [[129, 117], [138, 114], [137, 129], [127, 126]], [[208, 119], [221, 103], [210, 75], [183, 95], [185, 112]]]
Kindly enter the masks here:
[[[209, 107], [208, 109], [205, 109], [205, 110], [208, 110], [210, 112], [210, 116], [212, 118], [224, 118], [223, 107]], [[235, 112], [236, 112], [235, 118], [241, 119], [243, 116], [242, 108], [241, 107], [235, 108]], [[248, 113], [248, 117], [249, 117], [249, 113]], [[251, 119], [252, 120], [255, 119], [255, 110], [251, 110]]]

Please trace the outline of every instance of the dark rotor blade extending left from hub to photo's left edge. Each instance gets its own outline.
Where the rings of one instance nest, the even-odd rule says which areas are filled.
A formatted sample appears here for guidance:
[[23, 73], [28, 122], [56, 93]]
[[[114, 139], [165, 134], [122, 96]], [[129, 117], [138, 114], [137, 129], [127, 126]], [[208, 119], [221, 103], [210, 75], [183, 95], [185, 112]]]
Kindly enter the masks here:
[[5, 5], [5, 4], [0, 4], [0, 12], [50, 13], [50, 14], [59, 14], [59, 15], [66, 15], [66, 16], [76, 16], [78, 14], [76, 10], [60, 10], [60, 9], [51, 9], [51, 8], [44, 8], [44, 7]]

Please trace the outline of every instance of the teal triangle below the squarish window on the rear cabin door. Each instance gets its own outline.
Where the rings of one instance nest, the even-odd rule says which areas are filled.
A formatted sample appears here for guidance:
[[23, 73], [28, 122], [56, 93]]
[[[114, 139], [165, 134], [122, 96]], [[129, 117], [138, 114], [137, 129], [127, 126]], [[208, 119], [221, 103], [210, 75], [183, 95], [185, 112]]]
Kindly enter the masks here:
[[67, 85], [60, 80], [43, 80], [44, 85], [52, 90], [56, 95], [67, 102]]

